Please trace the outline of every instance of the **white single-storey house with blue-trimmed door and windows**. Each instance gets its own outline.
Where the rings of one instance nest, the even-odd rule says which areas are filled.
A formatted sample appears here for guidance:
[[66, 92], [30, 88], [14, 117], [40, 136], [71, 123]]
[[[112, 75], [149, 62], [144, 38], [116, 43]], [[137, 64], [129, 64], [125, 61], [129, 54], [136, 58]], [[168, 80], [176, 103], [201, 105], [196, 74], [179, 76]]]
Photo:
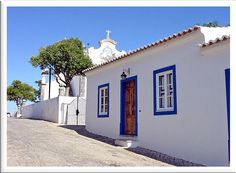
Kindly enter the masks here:
[[195, 26], [86, 69], [87, 130], [228, 166], [229, 29]]

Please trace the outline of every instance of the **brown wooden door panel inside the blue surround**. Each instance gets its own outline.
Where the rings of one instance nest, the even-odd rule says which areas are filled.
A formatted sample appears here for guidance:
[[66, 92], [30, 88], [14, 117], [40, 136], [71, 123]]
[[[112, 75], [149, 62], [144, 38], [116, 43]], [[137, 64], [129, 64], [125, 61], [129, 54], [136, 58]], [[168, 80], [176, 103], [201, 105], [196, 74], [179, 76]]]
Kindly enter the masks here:
[[135, 135], [135, 82], [134, 80], [125, 83], [125, 110], [124, 110], [124, 120], [125, 120], [125, 134]]

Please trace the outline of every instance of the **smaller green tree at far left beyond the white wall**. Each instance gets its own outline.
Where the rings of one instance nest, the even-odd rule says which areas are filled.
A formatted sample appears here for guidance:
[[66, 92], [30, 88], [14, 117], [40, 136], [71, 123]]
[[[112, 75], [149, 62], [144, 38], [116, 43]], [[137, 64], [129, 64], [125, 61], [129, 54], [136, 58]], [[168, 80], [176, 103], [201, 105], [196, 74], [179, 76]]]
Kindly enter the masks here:
[[7, 100], [14, 101], [18, 108], [18, 113], [21, 113], [22, 106], [27, 100], [35, 101], [35, 89], [26, 83], [14, 80], [7, 87]]

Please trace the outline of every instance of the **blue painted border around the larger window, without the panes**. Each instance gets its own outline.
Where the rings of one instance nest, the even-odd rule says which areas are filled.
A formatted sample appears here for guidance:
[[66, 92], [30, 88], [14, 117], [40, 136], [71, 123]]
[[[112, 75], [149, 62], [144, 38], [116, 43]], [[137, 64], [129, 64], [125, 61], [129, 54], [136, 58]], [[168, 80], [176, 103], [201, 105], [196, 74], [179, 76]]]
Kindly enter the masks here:
[[[156, 86], [157, 86], [157, 81], [156, 81], [156, 75], [158, 73], [162, 73], [165, 71], [173, 71], [173, 94], [174, 94], [174, 110], [173, 111], [157, 111], [156, 103], [157, 103], [157, 98], [156, 98]], [[171, 114], [177, 114], [177, 94], [176, 94], [176, 68], [175, 65], [168, 66], [165, 68], [161, 68], [158, 70], [153, 71], [153, 113], [154, 115], [171, 115]]]

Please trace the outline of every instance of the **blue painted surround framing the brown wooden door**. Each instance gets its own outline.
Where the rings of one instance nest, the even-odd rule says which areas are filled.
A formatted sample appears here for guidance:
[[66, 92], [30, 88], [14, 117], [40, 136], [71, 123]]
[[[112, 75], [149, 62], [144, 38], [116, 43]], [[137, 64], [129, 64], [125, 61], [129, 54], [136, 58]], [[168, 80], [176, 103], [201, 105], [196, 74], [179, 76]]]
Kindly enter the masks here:
[[124, 84], [128, 81], [134, 80], [135, 84], [135, 136], [138, 136], [138, 85], [137, 76], [132, 76], [120, 81], [120, 135], [125, 135], [124, 126], [124, 112], [125, 112], [125, 90]]

